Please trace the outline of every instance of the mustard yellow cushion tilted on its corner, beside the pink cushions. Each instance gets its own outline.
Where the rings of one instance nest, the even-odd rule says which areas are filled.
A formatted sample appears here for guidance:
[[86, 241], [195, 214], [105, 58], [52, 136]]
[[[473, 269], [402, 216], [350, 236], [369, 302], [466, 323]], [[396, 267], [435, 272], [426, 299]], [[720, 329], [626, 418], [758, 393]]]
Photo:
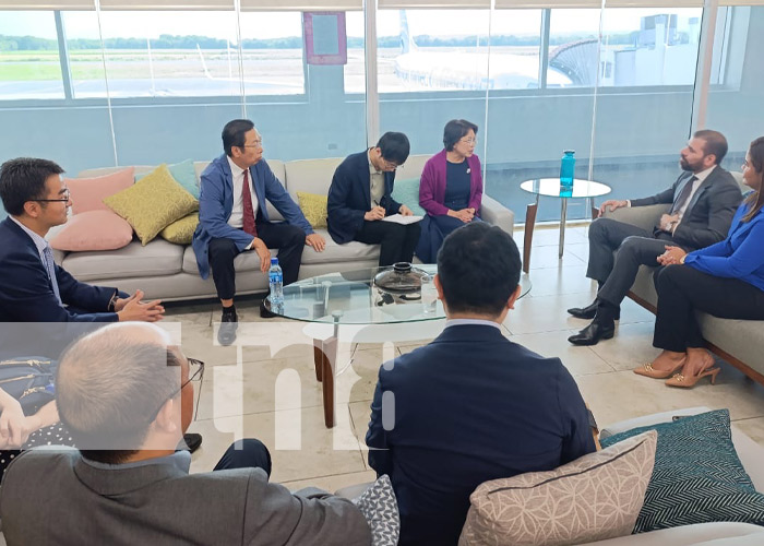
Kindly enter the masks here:
[[199, 201], [172, 178], [165, 164], [104, 203], [133, 226], [143, 246], [175, 221], [199, 210]]

